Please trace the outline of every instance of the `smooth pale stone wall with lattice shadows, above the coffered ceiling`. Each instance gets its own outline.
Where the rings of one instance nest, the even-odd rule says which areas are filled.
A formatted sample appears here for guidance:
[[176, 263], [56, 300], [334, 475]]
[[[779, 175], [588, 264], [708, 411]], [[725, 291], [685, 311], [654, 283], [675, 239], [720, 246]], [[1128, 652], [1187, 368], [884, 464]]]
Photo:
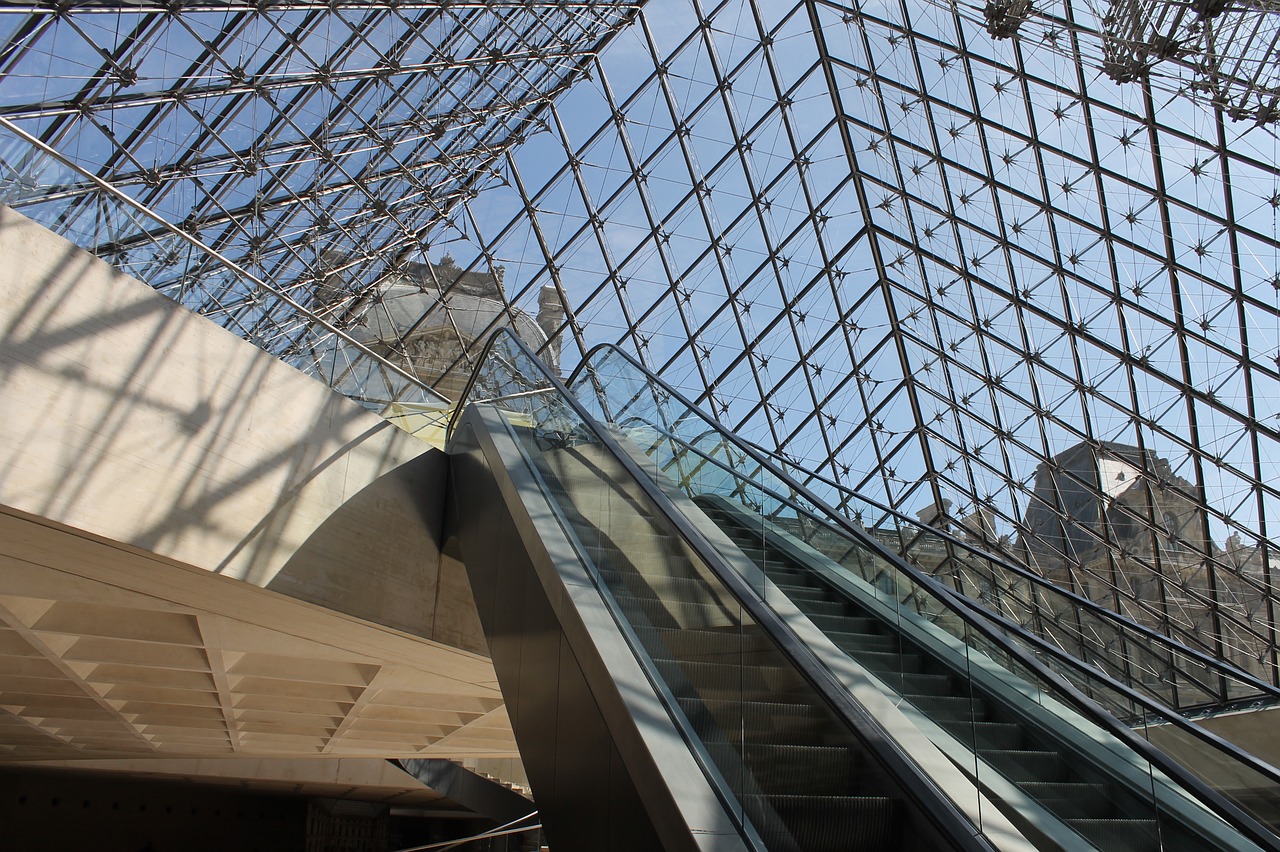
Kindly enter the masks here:
[[0, 209], [0, 507], [483, 650], [428, 450]]

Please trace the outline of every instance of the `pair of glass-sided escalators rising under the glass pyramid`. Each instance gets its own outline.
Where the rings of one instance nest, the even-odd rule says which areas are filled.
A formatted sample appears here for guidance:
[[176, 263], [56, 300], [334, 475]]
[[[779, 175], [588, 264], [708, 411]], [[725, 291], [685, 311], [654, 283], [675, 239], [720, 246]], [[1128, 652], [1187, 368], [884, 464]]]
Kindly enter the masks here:
[[557, 852], [1280, 848], [904, 565], [673, 482], [513, 336], [468, 399], [449, 527]]

